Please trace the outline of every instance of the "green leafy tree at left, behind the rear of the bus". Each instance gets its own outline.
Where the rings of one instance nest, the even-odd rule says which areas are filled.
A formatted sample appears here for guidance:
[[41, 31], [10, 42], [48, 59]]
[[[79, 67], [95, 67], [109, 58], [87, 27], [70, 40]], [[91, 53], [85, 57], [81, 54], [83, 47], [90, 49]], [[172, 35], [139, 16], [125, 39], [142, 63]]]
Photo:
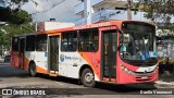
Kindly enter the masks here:
[[[1, 37], [1, 45], [9, 46], [10, 38], [14, 35], [30, 33], [34, 32], [35, 26], [32, 22], [32, 16], [24, 10], [18, 10], [17, 12], [12, 12], [10, 9], [5, 9], [2, 11], [3, 15], [0, 15], [0, 19], [7, 22], [7, 26], [0, 27], [0, 37]], [[2, 28], [7, 32], [2, 32]], [[2, 39], [3, 38], [3, 39]]]

